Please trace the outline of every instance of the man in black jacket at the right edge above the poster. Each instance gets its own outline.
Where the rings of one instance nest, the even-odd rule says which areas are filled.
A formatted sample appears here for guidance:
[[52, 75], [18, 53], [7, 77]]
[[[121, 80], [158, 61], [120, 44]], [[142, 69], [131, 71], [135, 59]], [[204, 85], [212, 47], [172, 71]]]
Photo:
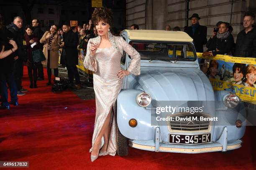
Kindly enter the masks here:
[[246, 13], [243, 17], [243, 27], [245, 29], [238, 33], [236, 38], [236, 57], [256, 58], [256, 29], [253, 28], [255, 15]]

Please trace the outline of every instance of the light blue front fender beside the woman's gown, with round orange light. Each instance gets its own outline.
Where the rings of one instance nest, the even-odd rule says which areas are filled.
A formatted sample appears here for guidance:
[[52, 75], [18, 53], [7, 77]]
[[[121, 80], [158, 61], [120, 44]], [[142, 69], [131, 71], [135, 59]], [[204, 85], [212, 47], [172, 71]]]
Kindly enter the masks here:
[[[154, 126], [151, 126], [151, 110], [140, 107], [136, 97], [141, 90], [124, 89], [117, 98], [117, 124], [123, 136], [133, 140], [153, 140]], [[130, 119], [136, 119], [137, 126], [129, 125]]]

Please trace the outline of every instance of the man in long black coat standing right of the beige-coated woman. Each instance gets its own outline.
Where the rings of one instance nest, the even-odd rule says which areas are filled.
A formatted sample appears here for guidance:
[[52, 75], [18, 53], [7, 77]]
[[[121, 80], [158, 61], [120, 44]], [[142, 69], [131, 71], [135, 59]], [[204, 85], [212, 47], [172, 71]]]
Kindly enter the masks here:
[[80, 89], [80, 77], [77, 71], [78, 65], [78, 53], [77, 45], [79, 43], [76, 33], [70, 31], [70, 25], [65, 24], [62, 26], [63, 29], [63, 42], [61, 47], [63, 48], [61, 55], [61, 64], [65, 64], [68, 71], [69, 83], [73, 84], [73, 79], [75, 76], [77, 89]]

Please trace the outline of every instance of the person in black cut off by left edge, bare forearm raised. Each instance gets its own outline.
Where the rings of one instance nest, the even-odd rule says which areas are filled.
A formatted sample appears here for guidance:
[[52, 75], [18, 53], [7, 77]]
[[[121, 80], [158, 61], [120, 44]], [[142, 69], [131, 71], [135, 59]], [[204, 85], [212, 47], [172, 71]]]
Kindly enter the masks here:
[[18, 106], [17, 87], [13, 78], [14, 61], [18, 59], [15, 51], [17, 51], [18, 46], [15, 41], [8, 38], [10, 36], [10, 31], [3, 25], [3, 16], [0, 15], [0, 109], [10, 109], [6, 84], [10, 89], [10, 103]]

